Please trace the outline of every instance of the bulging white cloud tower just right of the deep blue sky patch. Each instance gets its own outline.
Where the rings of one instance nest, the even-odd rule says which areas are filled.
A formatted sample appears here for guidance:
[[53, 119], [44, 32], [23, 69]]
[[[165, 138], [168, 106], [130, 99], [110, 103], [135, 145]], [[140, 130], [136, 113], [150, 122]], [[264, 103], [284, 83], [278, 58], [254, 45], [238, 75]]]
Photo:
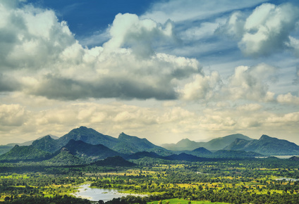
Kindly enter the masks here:
[[107, 52], [114, 51], [120, 47], [129, 46], [135, 55], [148, 58], [154, 54], [152, 44], [167, 39], [175, 39], [173, 24], [167, 21], [164, 25], [154, 20], [140, 20], [138, 15], [119, 13], [109, 29], [111, 39], [104, 44]]

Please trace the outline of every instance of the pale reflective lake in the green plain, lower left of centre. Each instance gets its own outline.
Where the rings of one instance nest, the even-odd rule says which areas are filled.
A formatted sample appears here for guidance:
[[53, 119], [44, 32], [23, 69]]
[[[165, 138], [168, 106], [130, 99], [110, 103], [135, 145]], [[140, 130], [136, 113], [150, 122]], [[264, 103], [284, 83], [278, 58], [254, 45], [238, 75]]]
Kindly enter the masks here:
[[77, 198], [86, 198], [92, 201], [112, 200], [113, 198], [121, 198], [123, 196], [147, 196], [147, 195], [138, 195], [133, 193], [122, 193], [116, 189], [96, 189], [90, 188], [90, 184], [83, 184], [79, 186], [78, 192], [73, 193]]

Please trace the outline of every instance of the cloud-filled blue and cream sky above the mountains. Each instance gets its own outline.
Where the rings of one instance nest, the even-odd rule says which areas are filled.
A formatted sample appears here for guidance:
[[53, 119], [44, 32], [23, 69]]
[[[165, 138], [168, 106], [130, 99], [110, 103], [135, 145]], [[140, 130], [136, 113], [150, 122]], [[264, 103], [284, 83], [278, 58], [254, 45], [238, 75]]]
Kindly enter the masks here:
[[298, 1], [0, 1], [0, 144], [80, 126], [299, 144], [298, 94]]

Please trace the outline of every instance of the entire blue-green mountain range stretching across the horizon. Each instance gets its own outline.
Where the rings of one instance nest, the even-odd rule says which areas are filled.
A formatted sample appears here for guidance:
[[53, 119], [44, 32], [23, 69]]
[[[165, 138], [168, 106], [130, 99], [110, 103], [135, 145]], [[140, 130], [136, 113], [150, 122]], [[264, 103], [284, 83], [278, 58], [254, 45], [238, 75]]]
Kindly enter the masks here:
[[57, 139], [47, 135], [28, 146], [0, 146], [0, 150], [2, 162], [36, 161], [45, 165], [80, 165], [109, 157], [198, 161], [207, 158], [299, 155], [296, 144], [267, 135], [251, 139], [243, 134], [231, 134], [207, 142], [183, 139], [177, 144], [157, 146], [138, 136], [121, 133], [115, 138], [87, 127], [73, 129]]

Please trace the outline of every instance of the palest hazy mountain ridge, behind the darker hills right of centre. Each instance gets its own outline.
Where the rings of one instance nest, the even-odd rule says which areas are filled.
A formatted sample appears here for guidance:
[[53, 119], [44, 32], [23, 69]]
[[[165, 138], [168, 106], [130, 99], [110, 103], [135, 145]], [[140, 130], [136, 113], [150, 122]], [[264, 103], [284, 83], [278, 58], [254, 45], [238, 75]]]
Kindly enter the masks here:
[[163, 144], [162, 146], [170, 151], [193, 151], [195, 148], [204, 147], [209, 151], [217, 151], [225, 148], [236, 139], [252, 140], [250, 137], [243, 134], [231, 134], [224, 137], [212, 139], [207, 142], [190, 141], [189, 139], [182, 139], [177, 144]]

